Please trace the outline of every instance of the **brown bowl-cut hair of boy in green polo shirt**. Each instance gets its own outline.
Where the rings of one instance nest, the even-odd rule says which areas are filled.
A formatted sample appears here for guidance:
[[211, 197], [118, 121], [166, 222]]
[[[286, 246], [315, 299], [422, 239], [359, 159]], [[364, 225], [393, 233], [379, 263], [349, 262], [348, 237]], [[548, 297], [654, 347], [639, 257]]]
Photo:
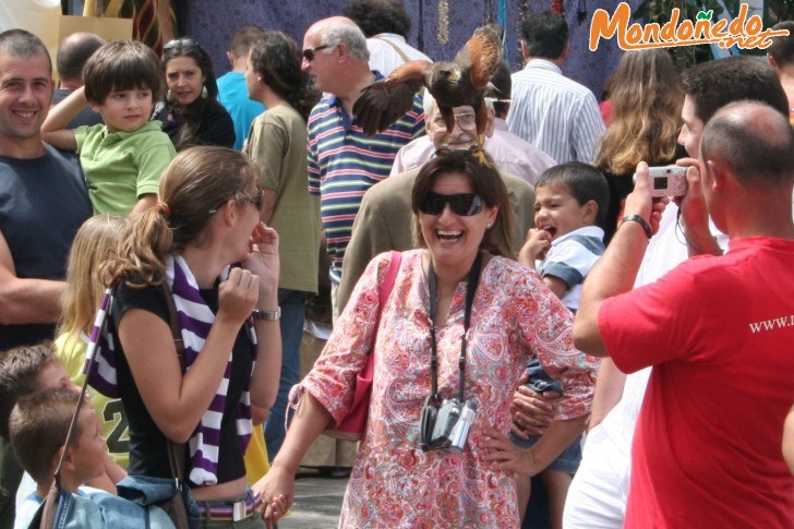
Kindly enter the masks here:
[[105, 103], [113, 91], [148, 88], [158, 100], [163, 86], [163, 63], [152, 48], [136, 40], [108, 43], [94, 53], [83, 71], [85, 98]]

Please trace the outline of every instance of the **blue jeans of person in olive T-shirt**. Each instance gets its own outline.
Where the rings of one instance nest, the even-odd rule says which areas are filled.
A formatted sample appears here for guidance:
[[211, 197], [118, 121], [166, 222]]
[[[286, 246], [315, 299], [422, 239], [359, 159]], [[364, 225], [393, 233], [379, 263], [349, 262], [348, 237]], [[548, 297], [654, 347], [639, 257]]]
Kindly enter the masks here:
[[290, 388], [298, 384], [301, 375], [300, 348], [303, 338], [303, 321], [306, 310], [306, 292], [301, 290], [278, 289], [278, 304], [281, 308], [281, 377], [278, 382], [276, 402], [265, 422], [265, 444], [267, 458], [278, 454], [284, 443], [284, 417], [287, 411], [287, 397]]

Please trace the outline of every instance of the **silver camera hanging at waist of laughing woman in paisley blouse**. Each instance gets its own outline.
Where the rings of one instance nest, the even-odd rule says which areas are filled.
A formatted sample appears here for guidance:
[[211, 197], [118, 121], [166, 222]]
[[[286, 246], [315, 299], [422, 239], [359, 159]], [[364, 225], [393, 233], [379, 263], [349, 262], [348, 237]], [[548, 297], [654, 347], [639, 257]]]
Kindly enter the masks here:
[[450, 398], [438, 407], [428, 397], [422, 409], [419, 432], [422, 449], [460, 454], [469, 438], [474, 417], [477, 405], [471, 400], [461, 404], [457, 398]]

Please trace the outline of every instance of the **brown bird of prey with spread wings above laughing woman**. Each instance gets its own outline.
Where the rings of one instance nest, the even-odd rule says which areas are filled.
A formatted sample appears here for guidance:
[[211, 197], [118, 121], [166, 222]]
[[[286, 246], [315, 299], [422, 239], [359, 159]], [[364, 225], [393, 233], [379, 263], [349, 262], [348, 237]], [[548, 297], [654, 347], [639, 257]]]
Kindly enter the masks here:
[[477, 123], [478, 148], [472, 148], [484, 161], [482, 146], [485, 141], [488, 109], [485, 88], [502, 60], [502, 43], [496, 35], [482, 28], [466, 43], [453, 61], [431, 63], [409, 61], [392, 74], [362, 91], [353, 105], [353, 115], [368, 135], [384, 131], [401, 118], [413, 104], [413, 96], [422, 86], [430, 91], [446, 125], [441, 151], [449, 148], [455, 128], [454, 107], [471, 106]]

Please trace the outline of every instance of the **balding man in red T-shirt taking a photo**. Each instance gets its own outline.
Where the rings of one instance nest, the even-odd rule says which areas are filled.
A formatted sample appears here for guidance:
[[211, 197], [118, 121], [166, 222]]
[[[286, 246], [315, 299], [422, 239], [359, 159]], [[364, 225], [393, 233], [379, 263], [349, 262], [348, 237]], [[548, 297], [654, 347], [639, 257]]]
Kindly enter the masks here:
[[624, 221], [585, 285], [576, 346], [625, 372], [653, 365], [625, 527], [794, 527], [794, 478], [780, 448], [794, 401], [794, 281], [784, 279], [794, 260], [793, 149], [790, 124], [771, 107], [719, 110], [683, 204], [705, 204], [730, 238], [727, 253], [630, 291], [664, 207], [640, 164]]

